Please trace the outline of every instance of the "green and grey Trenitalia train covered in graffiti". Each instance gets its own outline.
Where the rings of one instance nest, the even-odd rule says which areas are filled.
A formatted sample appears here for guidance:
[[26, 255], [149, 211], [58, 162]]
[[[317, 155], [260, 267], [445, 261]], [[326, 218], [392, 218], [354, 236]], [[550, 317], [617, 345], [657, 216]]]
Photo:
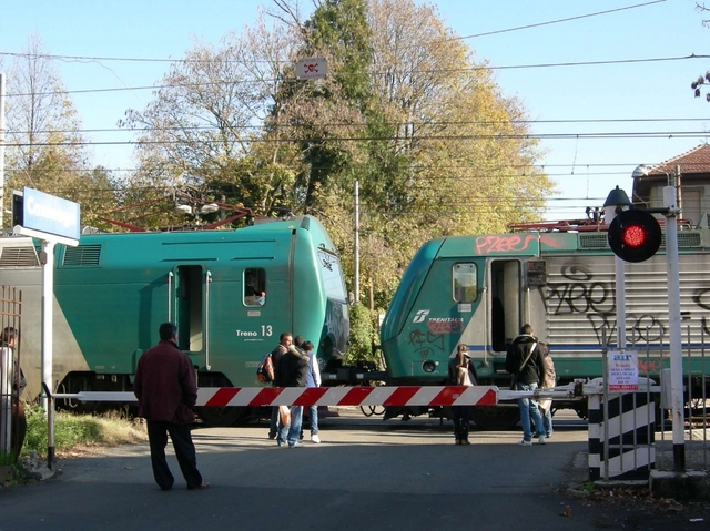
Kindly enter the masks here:
[[[506, 349], [526, 323], [548, 344], [560, 385], [601, 376], [604, 340], [613, 346], [617, 334], [615, 255], [606, 225], [546, 228], [426, 243], [381, 330], [392, 381], [440, 384], [464, 343], [479, 382], [508, 387]], [[678, 244], [684, 381], [700, 397], [702, 375], [710, 371], [702, 358], [710, 331], [710, 229], [681, 229]], [[625, 276], [627, 349], [637, 349], [640, 375], [658, 377], [670, 366], [665, 242], [651, 259], [626, 264]], [[585, 413], [584, 401], [556, 405]], [[473, 418], [480, 427], [506, 428], [518, 411], [474, 408]]]

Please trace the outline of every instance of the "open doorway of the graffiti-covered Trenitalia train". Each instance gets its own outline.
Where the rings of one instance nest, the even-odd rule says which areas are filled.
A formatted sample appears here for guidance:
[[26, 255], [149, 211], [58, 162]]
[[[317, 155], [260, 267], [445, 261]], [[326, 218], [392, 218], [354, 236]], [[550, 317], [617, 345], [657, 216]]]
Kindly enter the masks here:
[[520, 329], [520, 262], [489, 262], [490, 343], [495, 351], [505, 353]]

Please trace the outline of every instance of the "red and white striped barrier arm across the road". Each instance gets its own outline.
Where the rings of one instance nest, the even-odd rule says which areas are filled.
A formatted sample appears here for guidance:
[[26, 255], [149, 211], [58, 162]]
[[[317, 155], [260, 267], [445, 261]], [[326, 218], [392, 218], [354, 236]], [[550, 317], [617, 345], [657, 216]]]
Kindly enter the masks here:
[[[134, 402], [132, 392], [81, 391], [53, 398], [80, 401]], [[224, 406], [495, 406], [495, 386], [399, 387], [202, 387], [197, 404]]]

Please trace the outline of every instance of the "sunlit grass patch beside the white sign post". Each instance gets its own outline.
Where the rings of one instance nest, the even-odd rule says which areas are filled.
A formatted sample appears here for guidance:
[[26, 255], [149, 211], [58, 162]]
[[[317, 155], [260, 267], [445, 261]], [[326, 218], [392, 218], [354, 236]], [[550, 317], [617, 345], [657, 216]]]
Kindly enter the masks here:
[[[48, 425], [44, 410], [40, 406], [26, 409], [27, 436], [22, 455], [37, 452], [47, 456]], [[142, 419], [128, 419], [119, 412], [100, 416], [74, 415], [59, 411], [54, 415], [54, 453], [75, 455], [91, 448], [110, 447], [139, 442], [148, 439]]]

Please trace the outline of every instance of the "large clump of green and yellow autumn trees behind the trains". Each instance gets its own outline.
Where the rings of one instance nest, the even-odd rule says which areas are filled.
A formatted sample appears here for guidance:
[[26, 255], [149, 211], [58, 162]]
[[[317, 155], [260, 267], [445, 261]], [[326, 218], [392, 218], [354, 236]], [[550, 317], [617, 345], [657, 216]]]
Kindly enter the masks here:
[[[274, 0], [272, 25], [260, 19], [175, 63], [126, 115], [144, 131], [132, 182], [314, 214], [352, 277], [357, 181], [361, 285], [383, 312], [425, 241], [538, 219], [554, 187], [525, 110], [435, 8], [314, 3], [304, 20], [296, 0]], [[328, 75], [296, 79], [304, 57], [325, 58]]]

